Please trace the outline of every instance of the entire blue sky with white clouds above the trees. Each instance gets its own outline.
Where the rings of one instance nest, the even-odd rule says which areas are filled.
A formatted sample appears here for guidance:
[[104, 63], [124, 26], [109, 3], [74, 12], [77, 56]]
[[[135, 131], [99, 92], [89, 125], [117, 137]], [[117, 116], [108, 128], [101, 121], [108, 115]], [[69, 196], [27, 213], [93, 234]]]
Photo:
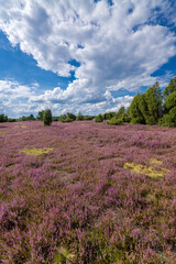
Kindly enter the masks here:
[[175, 0], [0, 0], [0, 113], [118, 111], [175, 76]]

